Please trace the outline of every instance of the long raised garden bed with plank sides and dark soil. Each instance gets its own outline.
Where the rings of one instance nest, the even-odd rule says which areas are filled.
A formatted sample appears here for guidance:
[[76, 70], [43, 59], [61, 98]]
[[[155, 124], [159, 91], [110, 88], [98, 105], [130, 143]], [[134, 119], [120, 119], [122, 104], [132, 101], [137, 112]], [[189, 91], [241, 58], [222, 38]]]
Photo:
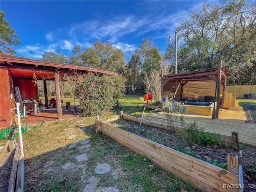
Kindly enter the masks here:
[[[133, 118], [126, 114], [122, 114], [124, 118]], [[105, 119], [107, 122], [117, 120], [118, 116], [114, 116], [112, 118]], [[137, 119], [137, 118], [136, 118]], [[181, 178], [186, 182], [190, 182], [195, 188], [204, 190], [204, 191], [236, 191], [238, 192], [238, 188], [224, 188], [224, 186], [228, 186], [231, 184], [238, 185], [239, 182], [239, 175], [234, 174], [230, 171], [224, 170], [222, 168], [213, 166], [206, 161], [206, 158], [211, 158], [214, 160], [215, 158], [218, 159], [219, 162], [222, 160], [226, 160], [227, 154], [238, 154], [239, 152], [234, 151], [233, 149], [226, 148], [209, 148], [209, 147], [201, 147], [201, 148], [192, 148], [193, 151], [197, 151], [198, 154], [195, 155], [196, 158], [188, 156], [186, 154], [180, 153], [177, 150], [172, 149], [173, 144], [180, 144], [181, 147], [185, 147], [185, 145], [180, 143], [178, 138], [172, 136], [169, 130], [163, 130], [159, 128], [149, 128], [148, 126], [142, 126], [140, 130], [138, 128], [134, 128], [135, 126], [138, 127], [138, 124], [127, 121], [123, 122], [124, 120], [118, 120], [112, 122], [112, 125], [102, 120], [96, 120], [96, 128], [101, 131], [102, 133], [110, 136], [114, 140], [117, 140], [119, 143], [127, 146], [128, 148], [134, 150], [138, 154], [147, 156], [156, 164], [168, 170], [173, 175]], [[143, 120], [142, 124], [148, 123], [150, 126], [156, 126], [156, 123], [148, 122]], [[117, 126], [121, 127], [126, 125], [126, 130], [122, 130], [117, 128]], [[130, 126], [128, 126], [130, 124]], [[159, 124], [158, 126], [163, 126]], [[130, 127], [130, 128], [129, 128]], [[155, 137], [146, 138], [147, 134], [145, 132], [151, 131], [152, 135]], [[134, 132], [135, 134], [133, 134]], [[139, 136], [140, 135], [140, 136]], [[162, 137], [162, 141], [164, 145], [153, 142], [154, 138], [159, 136]], [[168, 136], [172, 136], [169, 138]], [[164, 138], [164, 139], [163, 139]], [[161, 140], [161, 139], [160, 139]], [[216, 150], [214, 150], [216, 149]], [[218, 151], [218, 152], [216, 152]], [[199, 158], [199, 159], [198, 159]], [[201, 160], [200, 160], [201, 158]], [[244, 158], [248, 158], [244, 156]], [[256, 159], [256, 158], [255, 158]], [[242, 172], [242, 166], [240, 167], [240, 172]], [[238, 171], [238, 167], [234, 168], [234, 170]], [[240, 174], [241, 176], [242, 174]], [[240, 183], [242, 179], [240, 177]], [[245, 184], [248, 184], [245, 183]], [[241, 191], [241, 189], [239, 190]], [[251, 191], [251, 190], [247, 190]]]

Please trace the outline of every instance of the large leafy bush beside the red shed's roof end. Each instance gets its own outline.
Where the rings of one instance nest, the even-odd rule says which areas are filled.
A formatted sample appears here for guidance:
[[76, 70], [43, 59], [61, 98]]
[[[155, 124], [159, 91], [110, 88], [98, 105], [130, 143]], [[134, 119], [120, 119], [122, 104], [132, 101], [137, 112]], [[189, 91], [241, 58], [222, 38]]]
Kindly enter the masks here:
[[104, 74], [83, 74], [76, 78], [75, 93], [79, 98], [82, 116], [96, 116], [120, 107], [119, 99], [124, 94], [124, 77]]

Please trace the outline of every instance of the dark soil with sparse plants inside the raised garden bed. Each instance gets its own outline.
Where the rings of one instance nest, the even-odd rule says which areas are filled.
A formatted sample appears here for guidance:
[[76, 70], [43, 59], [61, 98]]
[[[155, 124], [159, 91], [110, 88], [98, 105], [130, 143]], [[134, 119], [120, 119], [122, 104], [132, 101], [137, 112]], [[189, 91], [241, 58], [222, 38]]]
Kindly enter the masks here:
[[[215, 160], [218, 162], [227, 162], [227, 155], [234, 154], [238, 155], [238, 163], [243, 166], [243, 182], [246, 186], [248, 184], [256, 185], [256, 176], [251, 172], [248, 172], [249, 168], [252, 168], [252, 163], [256, 162], [256, 148], [252, 146], [240, 146], [242, 148], [242, 158], [238, 151], [222, 146], [204, 146], [204, 145], [188, 145], [185, 141], [181, 140], [170, 130], [164, 130], [160, 128], [150, 127], [135, 122], [130, 122], [128, 120], [117, 120], [112, 123], [113, 126], [124, 129], [128, 132], [134, 133], [138, 136], [142, 136], [169, 148], [176, 149], [174, 144], [180, 146], [180, 148], [185, 148], [189, 146], [192, 151], [195, 151], [195, 158], [206, 161], [207, 159]], [[244, 192], [255, 192], [255, 189], [244, 189]]]

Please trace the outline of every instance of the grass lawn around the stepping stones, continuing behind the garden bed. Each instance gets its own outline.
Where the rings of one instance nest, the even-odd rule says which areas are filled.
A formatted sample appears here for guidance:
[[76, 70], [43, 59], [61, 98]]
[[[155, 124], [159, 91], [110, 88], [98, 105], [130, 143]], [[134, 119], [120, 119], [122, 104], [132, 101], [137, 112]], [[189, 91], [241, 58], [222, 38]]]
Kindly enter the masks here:
[[[66, 102], [73, 105], [74, 99], [64, 98], [62, 105], [66, 105]], [[142, 115], [145, 106], [142, 96], [124, 96], [121, 103], [120, 110], [124, 113]], [[144, 115], [151, 113], [153, 112], [146, 108]], [[106, 113], [100, 118], [112, 115], [113, 113]], [[112, 186], [119, 189], [119, 192], [197, 191], [147, 158], [96, 132], [94, 119], [95, 117], [75, 117], [49, 122], [23, 134], [26, 157], [25, 192], [82, 192], [91, 176], [100, 179], [98, 187]], [[86, 138], [90, 139], [91, 148], [86, 150], [88, 161], [82, 162], [85, 168], [64, 170], [67, 162], [77, 164], [75, 156], [82, 152], [76, 148], [62, 148]], [[94, 169], [102, 162], [109, 164], [111, 170], [107, 174], [96, 175]]]

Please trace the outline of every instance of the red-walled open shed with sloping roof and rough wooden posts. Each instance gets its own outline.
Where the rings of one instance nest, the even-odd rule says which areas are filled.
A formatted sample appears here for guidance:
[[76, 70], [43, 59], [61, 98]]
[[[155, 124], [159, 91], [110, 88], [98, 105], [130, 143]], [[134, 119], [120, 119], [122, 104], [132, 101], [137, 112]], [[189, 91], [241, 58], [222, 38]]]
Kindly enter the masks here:
[[[60, 78], [67, 74], [110, 74], [117, 75], [116, 72], [109, 72], [106, 70], [100, 70], [95, 68], [88, 68], [84, 66], [76, 66], [70, 64], [61, 64], [54, 62], [45, 62], [40, 60], [34, 60], [30, 58], [23, 58], [18, 56], [12, 56], [7, 54], [1, 54], [0, 56], [0, 72], [1, 72], [1, 116], [10, 115], [10, 93], [14, 92], [14, 86], [20, 86], [23, 97], [27, 97], [29, 94], [33, 98], [38, 99], [38, 90], [34, 86], [35, 80], [44, 80], [44, 98], [45, 106], [48, 108], [48, 96], [46, 80], [55, 81], [56, 91], [56, 106], [58, 112], [58, 119], [62, 119], [62, 109], [60, 101]], [[33, 82], [33, 83], [32, 83]], [[13, 91], [12, 91], [13, 90]], [[29, 92], [29, 94], [28, 94]], [[21, 94], [21, 96], [22, 96]], [[1, 118], [2, 118], [1, 117]], [[3, 120], [3, 121], [6, 121]], [[1, 119], [2, 122], [2, 119]]]

